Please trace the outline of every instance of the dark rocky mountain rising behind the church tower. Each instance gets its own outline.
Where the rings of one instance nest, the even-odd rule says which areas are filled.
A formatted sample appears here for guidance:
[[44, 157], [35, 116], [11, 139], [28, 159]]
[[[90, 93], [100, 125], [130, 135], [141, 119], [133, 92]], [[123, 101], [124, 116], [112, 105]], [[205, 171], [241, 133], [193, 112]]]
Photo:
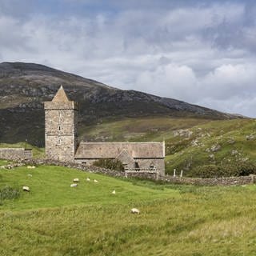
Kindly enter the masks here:
[[230, 119], [224, 114], [172, 98], [160, 98], [134, 90], [119, 90], [78, 75], [47, 66], [22, 62], [0, 63], [0, 142], [26, 138], [44, 144], [42, 102], [54, 97], [62, 84], [71, 99], [79, 102], [79, 126], [102, 120], [170, 116]]

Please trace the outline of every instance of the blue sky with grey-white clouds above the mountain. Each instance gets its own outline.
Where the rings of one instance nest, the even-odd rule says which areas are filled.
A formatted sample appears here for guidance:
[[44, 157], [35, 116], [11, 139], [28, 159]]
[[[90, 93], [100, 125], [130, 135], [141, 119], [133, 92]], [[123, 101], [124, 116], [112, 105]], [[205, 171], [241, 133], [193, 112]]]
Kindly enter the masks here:
[[256, 1], [0, 0], [0, 62], [256, 118]]

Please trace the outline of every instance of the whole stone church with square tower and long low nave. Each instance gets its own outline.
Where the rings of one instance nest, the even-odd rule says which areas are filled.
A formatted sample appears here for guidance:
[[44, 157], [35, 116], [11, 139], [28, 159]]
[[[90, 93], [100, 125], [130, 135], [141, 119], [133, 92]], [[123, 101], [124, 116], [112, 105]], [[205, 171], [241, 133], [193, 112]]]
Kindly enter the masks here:
[[102, 158], [120, 160], [126, 172], [164, 175], [164, 142], [78, 142], [78, 104], [62, 86], [51, 102], [44, 102], [46, 158], [91, 165]]

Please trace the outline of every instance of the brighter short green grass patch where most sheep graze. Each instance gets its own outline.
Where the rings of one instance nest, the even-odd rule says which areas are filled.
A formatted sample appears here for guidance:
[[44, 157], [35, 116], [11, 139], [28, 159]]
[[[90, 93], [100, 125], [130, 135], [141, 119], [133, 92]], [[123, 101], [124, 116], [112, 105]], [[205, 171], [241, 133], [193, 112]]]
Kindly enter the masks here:
[[[0, 174], [2, 174], [0, 181], [2, 186], [21, 189], [22, 186], [30, 187], [30, 193], [23, 192], [22, 198], [18, 201], [6, 201], [0, 206], [1, 210], [27, 210], [74, 204], [127, 203], [170, 196], [170, 191], [150, 190], [147, 187], [134, 186], [130, 182], [60, 166], [38, 166], [35, 169], [23, 166], [14, 170], [1, 170]], [[80, 182], [78, 187], [71, 188], [70, 184], [73, 183], [74, 178], [79, 178]], [[90, 178], [91, 181], [87, 182], [86, 178]], [[98, 183], [94, 182], [94, 179], [97, 179]], [[115, 196], [111, 194], [113, 190], [117, 191]], [[173, 194], [177, 195], [176, 191], [173, 191]]]

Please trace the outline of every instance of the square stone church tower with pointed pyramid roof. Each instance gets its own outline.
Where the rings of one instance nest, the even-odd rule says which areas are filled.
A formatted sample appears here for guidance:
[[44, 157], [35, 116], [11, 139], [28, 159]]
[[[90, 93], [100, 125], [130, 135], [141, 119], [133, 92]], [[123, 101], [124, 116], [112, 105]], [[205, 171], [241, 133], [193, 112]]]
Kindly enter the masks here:
[[78, 146], [78, 105], [61, 86], [51, 102], [44, 102], [46, 158], [74, 162]]

